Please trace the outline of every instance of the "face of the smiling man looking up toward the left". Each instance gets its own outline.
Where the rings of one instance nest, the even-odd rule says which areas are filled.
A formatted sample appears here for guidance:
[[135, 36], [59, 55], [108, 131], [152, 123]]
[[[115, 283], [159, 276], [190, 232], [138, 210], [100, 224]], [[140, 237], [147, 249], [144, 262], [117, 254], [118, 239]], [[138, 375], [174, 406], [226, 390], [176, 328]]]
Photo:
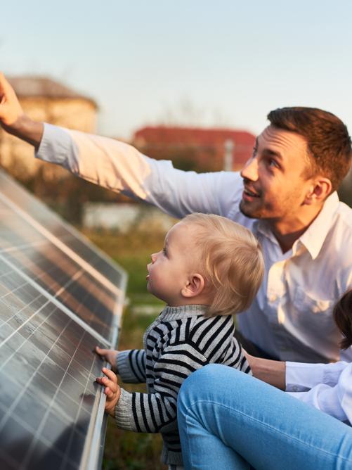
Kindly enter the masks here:
[[241, 171], [240, 210], [247, 217], [289, 222], [302, 210], [312, 187], [306, 139], [272, 125], [256, 139], [252, 158]]

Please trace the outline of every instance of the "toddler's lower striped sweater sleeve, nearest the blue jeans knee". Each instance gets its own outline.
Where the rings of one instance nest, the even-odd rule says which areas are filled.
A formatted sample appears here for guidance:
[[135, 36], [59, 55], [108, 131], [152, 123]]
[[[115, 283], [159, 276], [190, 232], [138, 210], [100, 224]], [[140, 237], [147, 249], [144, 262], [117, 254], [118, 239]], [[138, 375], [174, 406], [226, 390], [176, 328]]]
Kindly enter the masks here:
[[170, 424], [176, 428], [176, 402], [183, 381], [208, 363], [202, 352], [190, 343], [168, 345], [154, 367], [154, 393], [128, 393], [123, 390], [115, 408], [119, 428], [142, 433], [158, 433]]

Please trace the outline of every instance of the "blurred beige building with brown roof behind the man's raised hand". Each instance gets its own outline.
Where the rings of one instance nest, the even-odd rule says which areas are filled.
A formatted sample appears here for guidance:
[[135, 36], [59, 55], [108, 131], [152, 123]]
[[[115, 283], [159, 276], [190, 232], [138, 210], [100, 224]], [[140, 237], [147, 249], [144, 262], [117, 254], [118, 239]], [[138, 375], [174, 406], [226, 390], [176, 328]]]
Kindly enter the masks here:
[[[47, 77], [8, 77], [22, 108], [30, 118], [84, 132], [96, 132], [98, 106], [93, 99], [78, 94]], [[33, 148], [0, 129], [0, 163], [25, 181], [37, 173], [42, 163], [33, 158]], [[46, 179], [63, 176], [65, 170], [45, 165]]]

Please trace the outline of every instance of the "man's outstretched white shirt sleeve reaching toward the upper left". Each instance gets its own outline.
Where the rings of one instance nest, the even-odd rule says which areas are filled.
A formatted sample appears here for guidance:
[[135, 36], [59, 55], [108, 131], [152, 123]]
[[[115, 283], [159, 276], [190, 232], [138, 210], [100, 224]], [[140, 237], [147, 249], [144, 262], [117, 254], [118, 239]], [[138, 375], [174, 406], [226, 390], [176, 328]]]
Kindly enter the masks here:
[[238, 173], [183, 172], [115, 139], [48, 124], [36, 156], [107, 189], [152, 203], [174, 217], [190, 212], [226, 216], [242, 191]]

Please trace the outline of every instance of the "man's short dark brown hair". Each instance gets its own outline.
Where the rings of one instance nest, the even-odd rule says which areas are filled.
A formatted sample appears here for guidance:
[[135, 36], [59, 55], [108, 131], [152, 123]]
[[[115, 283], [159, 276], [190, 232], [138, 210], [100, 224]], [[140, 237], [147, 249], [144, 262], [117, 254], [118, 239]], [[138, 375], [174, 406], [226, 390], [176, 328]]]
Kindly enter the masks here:
[[313, 174], [322, 172], [335, 191], [351, 166], [351, 137], [346, 125], [332, 113], [301, 106], [270, 111], [268, 120], [273, 126], [306, 139]]

